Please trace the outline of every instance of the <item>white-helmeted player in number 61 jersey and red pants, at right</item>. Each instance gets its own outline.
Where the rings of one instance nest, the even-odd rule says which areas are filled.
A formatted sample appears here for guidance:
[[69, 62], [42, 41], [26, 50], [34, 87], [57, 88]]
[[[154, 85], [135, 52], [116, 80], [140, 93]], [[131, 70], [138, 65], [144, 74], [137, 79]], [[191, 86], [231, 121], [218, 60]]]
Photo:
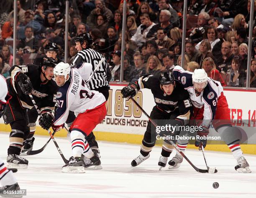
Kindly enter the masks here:
[[[175, 66], [173, 74], [175, 79], [189, 92], [190, 100], [194, 105], [194, 119], [201, 120], [200, 124], [204, 130], [197, 132], [197, 135], [207, 136], [210, 124], [212, 124], [237, 160], [235, 169], [239, 173], [251, 173], [240, 147], [241, 132], [238, 128], [232, 127], [228, 102], [220, 82], [207, 77], [204, 69], [196, 69], [192, 73], [184, 71], [180, 66]], [[196, 140], [195, 146], [205, 147], [206, 140]], [[185, 148], [186, 146], [183, 147], [183, 150]], [[178, 153], [169, 161], [169, 165], [175, 167], [181, 162], [182, 156]]]

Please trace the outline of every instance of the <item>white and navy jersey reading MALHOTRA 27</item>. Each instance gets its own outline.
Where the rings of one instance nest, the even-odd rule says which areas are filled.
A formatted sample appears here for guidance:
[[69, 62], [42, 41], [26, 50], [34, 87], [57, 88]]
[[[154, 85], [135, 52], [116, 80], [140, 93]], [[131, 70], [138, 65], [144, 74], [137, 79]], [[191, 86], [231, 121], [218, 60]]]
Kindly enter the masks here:
[[56, 109], [54, 125], [59, 126], [66, 122], [69, 110], [79, 114], [94, 109], [105, 101], [103, 94], [90, 90], [77, 68], [72, 68], [70, 79], [57, 92], [58, 108]]

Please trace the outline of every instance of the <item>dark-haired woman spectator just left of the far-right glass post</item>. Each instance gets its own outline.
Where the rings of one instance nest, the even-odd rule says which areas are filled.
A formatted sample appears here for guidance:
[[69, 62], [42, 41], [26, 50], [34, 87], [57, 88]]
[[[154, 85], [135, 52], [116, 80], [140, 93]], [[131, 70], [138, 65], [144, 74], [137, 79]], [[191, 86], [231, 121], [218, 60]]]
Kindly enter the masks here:
[[246, 73], [241, 69], [239, 56], [234, 56], [231, 63], [231, 70], [228, 72], [228, 86], [245, 87]]

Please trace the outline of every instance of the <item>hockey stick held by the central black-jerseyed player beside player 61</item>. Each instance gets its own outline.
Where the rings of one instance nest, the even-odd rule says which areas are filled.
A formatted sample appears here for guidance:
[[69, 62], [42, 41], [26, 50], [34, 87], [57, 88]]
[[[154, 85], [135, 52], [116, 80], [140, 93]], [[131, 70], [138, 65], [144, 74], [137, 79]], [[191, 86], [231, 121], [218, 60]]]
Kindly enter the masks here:
[[[131, 100], [138, 106], [139, 109], [141, 109], [141, 111], [146, 115], [146, 117], [148, 117], [149, 121], [155, 126], [157, 127], [157, 124], [151, 119], [151, 117], [149, 117], [149, 115], [142, 109], [142, 107], [133, 99], [131, 98]], [[167, 135], [164, 134], [164, 137], [167, 137]], [[174, 148], [187, 160], [187, 162], [189, 162], [189, 164], [199, 173], [208, 173], [208, 170], [205, 169], [200, 169], [197, 168], [188, 158], [187, 156], [179, 149], [179, 147], [174, 144], [174, 142], [172, 140], [167, 140], [172, 146], [174, 146]]]

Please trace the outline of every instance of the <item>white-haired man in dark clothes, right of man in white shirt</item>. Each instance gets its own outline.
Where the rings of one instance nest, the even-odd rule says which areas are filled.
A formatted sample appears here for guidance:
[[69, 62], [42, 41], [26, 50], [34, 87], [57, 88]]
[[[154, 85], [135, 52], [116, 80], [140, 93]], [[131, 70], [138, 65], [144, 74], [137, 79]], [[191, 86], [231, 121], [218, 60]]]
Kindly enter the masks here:
[[167, 33], [167, 36], [170, 36], [170, 30], [173, 28], [172, 23], [170, 22], [171, 13], [169, 10], [161, 10], [159, 14], [159, 23], [154, 25], [148, 32], [147, 38], [152, 38], [156, 36], [156, 31], [159, 28], [164, 28]]

